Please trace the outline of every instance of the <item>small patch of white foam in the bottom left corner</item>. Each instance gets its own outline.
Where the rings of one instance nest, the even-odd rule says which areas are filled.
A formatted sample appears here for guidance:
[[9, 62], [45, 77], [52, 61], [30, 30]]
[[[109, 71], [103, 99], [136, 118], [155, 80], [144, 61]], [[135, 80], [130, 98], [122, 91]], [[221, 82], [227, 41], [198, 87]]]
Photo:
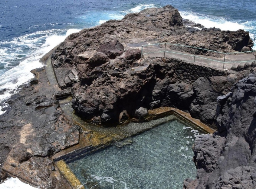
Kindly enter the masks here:
[[0, 184], [0, 189], [36, 189], [36, 188], [21, 182], [17, 178], [10, 178]]

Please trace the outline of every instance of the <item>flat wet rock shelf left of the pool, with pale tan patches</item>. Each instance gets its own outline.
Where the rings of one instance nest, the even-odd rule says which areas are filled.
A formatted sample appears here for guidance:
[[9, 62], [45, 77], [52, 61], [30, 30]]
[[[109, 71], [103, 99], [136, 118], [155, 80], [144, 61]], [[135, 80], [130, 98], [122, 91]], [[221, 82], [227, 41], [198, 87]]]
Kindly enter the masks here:
[[81, 129], [64, 116], [44, 69], [33, 73], [37, 83], [24, 85], [0, 115], [0, 180], [4, 169], [40, 188], [68, 189], [49, 157], [78, 144]]

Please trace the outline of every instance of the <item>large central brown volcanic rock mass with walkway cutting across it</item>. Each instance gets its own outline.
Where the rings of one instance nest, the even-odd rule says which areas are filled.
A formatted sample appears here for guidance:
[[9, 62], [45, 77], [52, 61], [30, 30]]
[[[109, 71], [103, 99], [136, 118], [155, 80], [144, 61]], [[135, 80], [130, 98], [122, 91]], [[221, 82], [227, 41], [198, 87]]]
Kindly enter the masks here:
[[[141, 61], [140, 49], [130, 48], [130, 44], [151, 41], [169, 41], [220, 52], [252, 47], [249, 33], [243, 30], [231, 32], [204, 28], [188, 32], [178, 10], [172, 6], [146, 9], [128, 14], [122, 20], [110, 20], [84, 29], [66, 38], [52, 56], [59, 86], [64, 89], [75, 83], [72, 106], [76, 113], [97, 123], [118, 123], [123, 111], [128, 113], [128, 118], [134, 117], [135, 111], [141, 107], [171, 106], [190, 111], [194, 117], [213, 124], [215, 99], [224, 95], [232, 85], [226, 78], [227, 74], [203, 67], [199, 68], [200, 73], [193, 66], [184, 68], [181, 66], [184, 63], [177, 60]], [[197, 54], [209, 53], [202, 50]], [[187, 79], [185, 83], [180, 84], [181, 76]], [[210, 76], [225, 78], [206, 79]], [[196, 83], [192, 87], [200, 77], [206, 77], [198, 81], [205, 83], [205, 89], [200, 89]], [[210, 89], [211, 85], [219, 84], [224, 88]], [[177, 85], [184, 95], [175, 88]], [[211, 97], [205, 97], [206, 93], [211, 93]], [[175, 95], [180, 98], [178, 101]], [[183, 104], [187, 107], [182, 107]]]

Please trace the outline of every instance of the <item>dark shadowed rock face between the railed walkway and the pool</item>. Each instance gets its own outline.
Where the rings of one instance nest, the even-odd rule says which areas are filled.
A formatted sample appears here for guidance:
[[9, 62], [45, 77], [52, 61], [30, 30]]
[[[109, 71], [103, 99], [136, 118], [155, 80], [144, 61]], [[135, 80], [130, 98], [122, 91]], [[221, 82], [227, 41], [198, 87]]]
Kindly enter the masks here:
[[[137, 51], [133, 52], [136, 56]], [[118, 123], [124, 112], [129, 118], [140, 107], [168, 106], [213, 126], [217, 97], [228, 93], [237, 80], [226, 71], [179, 59], [145, 58], [130, 65], [127, 54], [131, 52], [111, 64], [77, 66], [82, 76], [72, 88], [72, 106], [83, 118]]]

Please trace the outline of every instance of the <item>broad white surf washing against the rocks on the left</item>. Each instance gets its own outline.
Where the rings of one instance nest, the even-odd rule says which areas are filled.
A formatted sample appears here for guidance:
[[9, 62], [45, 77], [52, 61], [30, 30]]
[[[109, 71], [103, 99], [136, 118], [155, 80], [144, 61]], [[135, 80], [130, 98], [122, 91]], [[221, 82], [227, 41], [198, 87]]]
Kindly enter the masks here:
[[[40, 62], [40, 58], [42, 58], [43, 55], [49, 52], [60, 42], [64, 41], [68, 35], [78, 31], [79, 30], [76, 29], [66, 31], [39, 31], [21, 36], [19, 38], [14, 38], [13, 41], [10, 42], [2, 42], [8, 43], [11, 47], [15, 47], [16, 51], [10, 54], [5, 51], [5, 54], [2, 54], [0, 59], [12, 61], [15, 58], [17, 59], [17, 56], [20, 55], [20, 49], [27, 47], [30, 48], [30, 50], [26, 52], [26, 57], [23, 58], [24, 60], [22, 60], [19, 65], [14, 66], [12, 69], [9, 69], [8, 71], [4, 72], [3, 75], [1, 75], [0, 90], [9, 89], [9, 91], [5, 92], [3, 95], [0, 95], [0, 102], [13, 95], [18, 86], [23, 85], [24, 83], [28, 82], [29, 79], [34, 77], [30, 71], [43, 66], [43, 64]], [[65, 32], [65, 34], [58, 35], [60, 32]], [[1, 49], [1, 51], [3, 51], [3, 49]], [[9, 65], [8, 62], [7, 65]]]

